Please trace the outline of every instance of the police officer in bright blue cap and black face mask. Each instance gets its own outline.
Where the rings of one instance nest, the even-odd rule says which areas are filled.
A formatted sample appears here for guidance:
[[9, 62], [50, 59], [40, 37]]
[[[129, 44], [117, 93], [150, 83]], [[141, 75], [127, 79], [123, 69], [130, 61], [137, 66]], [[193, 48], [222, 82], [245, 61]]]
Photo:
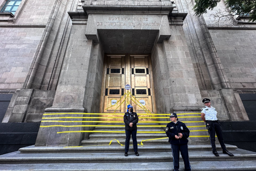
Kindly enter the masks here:
[[139, 118], [136, 112], [133, 112], [133, 107], [129, 104], [127, 106], [127, 112], [124, 115], [124, 122], [125, 122], [125, 134], [126, 134], [126, 140], [125, 140], [125, 156], [128, 156], [129, 151], [129, 144], [130, 144], [130, 138], [132, 137], [133, 142], [133, 150], [135, 152], [136, 156], [139, 156], [138, 153], [138, 145], [137, 145], [137, 125]]

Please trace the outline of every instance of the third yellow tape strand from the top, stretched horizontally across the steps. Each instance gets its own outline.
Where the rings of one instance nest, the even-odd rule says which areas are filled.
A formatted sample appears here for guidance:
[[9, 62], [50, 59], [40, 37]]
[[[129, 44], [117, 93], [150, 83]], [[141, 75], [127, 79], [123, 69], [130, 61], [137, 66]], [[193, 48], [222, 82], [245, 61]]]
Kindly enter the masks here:
[[[124, 123], [123, 121], [41, 121], [41, 122], [96, 122], [96, 123]], [[170, 121], [140, 121], [140, 123], [169, 123]], [[182, 121], [183, 123], [197, 123], [204, 121]]]

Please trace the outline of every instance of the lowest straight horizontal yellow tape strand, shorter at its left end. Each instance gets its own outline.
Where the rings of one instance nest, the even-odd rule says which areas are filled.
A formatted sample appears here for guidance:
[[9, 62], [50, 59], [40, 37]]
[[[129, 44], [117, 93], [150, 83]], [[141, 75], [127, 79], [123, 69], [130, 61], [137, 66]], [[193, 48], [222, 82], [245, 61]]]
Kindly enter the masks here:
[[[203, 130], [191, 130], [190, 132], [198, 132], [198, 131], [208, 131], [207, 129]], [[62, 131], [57, 132], [57, 134], [60, 133], [71, 133], [71, 132], [105, 132], [105, 133], [125, 133], [125, 131]], [[137, 131], [137, 133], [165, 133], [165, 131]]]

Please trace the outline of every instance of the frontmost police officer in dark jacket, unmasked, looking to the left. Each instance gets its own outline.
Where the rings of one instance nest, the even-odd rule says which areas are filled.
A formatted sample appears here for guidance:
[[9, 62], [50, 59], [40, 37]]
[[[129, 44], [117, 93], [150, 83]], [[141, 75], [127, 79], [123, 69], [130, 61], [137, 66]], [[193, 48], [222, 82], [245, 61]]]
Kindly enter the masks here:
[[180, 153], [184, 160], [185, 171], [191, 171], [188, 152], [189, 129], [183, 122], [178, 121], [176, 113], [171, 113], [171, 122], [167, 124], [165, 133], [169, 137], [173, 156], [173, 170], [179, 171]]

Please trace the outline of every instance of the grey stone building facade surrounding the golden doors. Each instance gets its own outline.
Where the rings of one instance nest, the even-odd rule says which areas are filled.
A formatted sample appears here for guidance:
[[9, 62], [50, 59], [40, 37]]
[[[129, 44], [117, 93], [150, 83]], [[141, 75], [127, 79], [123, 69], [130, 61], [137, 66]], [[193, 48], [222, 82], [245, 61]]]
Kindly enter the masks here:
[[[16, 144], [35, 140], [44, 113], [101, 113], [108, 54], [150, 56], [156, 113], [200, 112], [209, 98], [221, 121], [254, 120], [242, 100], [256, 100], [255, 23], [216, 26], [211, 14], [224, 2], [201, 16], [193, 7], [186, 0], [22, 0], [14, 15], [1, 12], [0, 121], [9, 131], [2, 136], [16, 124]], [[66, 130], [40, 128], [36, 146], [78, 146], [89, 135], [56, 134]]]

